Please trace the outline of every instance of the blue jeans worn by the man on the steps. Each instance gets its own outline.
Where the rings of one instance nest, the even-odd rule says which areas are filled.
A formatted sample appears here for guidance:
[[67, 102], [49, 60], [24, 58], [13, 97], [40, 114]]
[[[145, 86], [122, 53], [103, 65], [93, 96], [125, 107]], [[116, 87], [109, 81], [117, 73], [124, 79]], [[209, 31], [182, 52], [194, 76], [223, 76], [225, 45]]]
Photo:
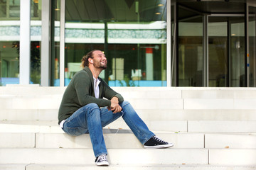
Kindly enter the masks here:
[[119, 105], [122, 107], [122, 111], [112, 113], [112, 111], [108, 111], [107, 107], [99, 108], [95, 103], [87, 104], [65, 120], [63, 130], [73, 136], [89, 133], [93, 152], [95, 157], [98, 157], [100, 154], [107, 154], [102, 128], [122, 116], [134, 135], [144, 145], [154, 136], [154, 133], [147, 128], [129, 102], [124, 101]]

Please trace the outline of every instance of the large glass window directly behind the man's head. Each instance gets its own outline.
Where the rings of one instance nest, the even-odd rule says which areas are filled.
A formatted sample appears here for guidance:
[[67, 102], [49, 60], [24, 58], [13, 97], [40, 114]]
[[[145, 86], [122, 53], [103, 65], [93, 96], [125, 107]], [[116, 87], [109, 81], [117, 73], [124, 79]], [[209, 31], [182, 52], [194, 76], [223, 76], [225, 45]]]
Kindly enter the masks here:
[[110, 86], [166, 86], [166, 0], [65, 1], [65, 86], [94, 49]]

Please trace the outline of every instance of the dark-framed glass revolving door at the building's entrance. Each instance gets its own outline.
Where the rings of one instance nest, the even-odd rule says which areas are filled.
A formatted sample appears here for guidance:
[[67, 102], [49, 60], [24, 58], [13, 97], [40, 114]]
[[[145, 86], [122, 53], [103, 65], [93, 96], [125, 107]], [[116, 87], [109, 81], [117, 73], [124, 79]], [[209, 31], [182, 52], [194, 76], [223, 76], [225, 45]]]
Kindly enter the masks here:
[[176, 3], [176, 86], [256, 86], [256, 4], [248, 4]]

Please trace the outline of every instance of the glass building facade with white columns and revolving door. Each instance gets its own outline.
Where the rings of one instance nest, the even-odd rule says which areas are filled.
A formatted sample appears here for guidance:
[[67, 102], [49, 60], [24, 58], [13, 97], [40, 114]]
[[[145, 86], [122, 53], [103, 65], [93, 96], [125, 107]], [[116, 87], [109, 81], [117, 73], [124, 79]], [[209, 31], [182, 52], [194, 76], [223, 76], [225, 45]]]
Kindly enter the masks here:
[[0, 0], [0, 86], [67, 86], [90, 50], [110, 86], [256, 86], [255, 0]]

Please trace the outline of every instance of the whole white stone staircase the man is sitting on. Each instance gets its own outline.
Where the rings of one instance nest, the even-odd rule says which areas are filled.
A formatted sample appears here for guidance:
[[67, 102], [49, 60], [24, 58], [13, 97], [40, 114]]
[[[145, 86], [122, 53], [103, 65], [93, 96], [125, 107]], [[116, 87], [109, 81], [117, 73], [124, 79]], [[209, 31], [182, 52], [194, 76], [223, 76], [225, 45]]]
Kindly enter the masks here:
[[[58, 127], [65, 87], [0, 87], [0, 169], [256, 169], [256, 88], [114, 87], [169, 149], [144, 149], [122, 118], [104, 128], [110, 166], [89, 135]], [[117, 131], [118, 130], [118, 131]]]

